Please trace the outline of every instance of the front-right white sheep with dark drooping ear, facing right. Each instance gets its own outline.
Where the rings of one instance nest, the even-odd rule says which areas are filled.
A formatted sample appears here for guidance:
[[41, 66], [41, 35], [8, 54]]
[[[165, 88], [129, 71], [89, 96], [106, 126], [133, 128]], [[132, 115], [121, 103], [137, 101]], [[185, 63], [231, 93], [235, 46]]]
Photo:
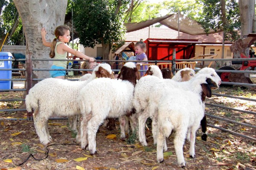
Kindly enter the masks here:
[[218, 87], [218, 82], [210, 75], [199, 75], [185, 83], [190, 84], [190, 90], [169, 88], [160, 94], [161, 102], [157, 106], [157, 161], [163, 162], [166, 137], [175, 130], [174, 146], [180, 167], [185, 167], [183, 144], [187, 133], [190, 137], [189, 154], [195, 158], [195, 133], [204, 117], [204, 100], [211, 97], [212, 88]]

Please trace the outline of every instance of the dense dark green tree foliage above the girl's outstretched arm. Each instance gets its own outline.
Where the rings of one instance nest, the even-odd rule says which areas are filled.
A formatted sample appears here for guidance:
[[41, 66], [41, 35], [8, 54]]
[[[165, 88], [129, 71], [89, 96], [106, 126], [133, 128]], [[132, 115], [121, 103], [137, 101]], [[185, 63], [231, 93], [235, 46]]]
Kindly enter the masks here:
[[102, 42], [112, 44], [122, 41], [125, 36], [122, 14], [126, 1], [122, 3], [115, 14], [116, 0], [73, 0], [73, 21], [79, 32], [80, 43], [93, 48]]

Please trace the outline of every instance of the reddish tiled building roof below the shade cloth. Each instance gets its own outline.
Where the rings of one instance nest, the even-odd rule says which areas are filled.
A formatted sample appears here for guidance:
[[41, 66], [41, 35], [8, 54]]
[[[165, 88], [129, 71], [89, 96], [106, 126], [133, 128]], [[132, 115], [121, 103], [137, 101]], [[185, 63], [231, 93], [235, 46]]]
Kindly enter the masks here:
[[[209, 34], [209, 35], [189, 35], [183, 32], [178, 32], [169, 28], [158, 28], [158, 27], [147, 27], [133, 32], [126, 32], [125, 41], [139, 41], [140, 39], [146, 40], [148, 38], [158, 38], [158, 39], [186, 39], [186, 40], [198, 40], [201, 44], [218, 44], [222, 43], [222, 32]], [[231, 43], [230, 41], [225, 41], [225, 43]]]

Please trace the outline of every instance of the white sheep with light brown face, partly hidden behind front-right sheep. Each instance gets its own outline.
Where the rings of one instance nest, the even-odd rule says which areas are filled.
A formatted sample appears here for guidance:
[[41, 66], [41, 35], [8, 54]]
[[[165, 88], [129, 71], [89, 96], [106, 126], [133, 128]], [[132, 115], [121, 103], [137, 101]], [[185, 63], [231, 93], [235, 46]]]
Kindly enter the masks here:
[[[179, 70], [176, 73], [176, 75], [173, 76], [172, 79], [157, 78], [156, 76], [145, 76], [141, 78], [140, 81], [138, 81], [138, 83], [134, 88], [133, 104], [134, 104], [134, 109], [136, 110], [136, 113], [137, 113], [139, 141], [141, 142], [141, 144], [143, 144], [143, 146], [147, 146], [146, 137], [145, 137], [145, 123], [147, 121], [147, 118], [150, 117], [148, 112], [148, 100], [152, 95], [151, 94], [152, 88], [156, 84], [159, 84], [160, 82], [167, 81], [167, 80], [187, 81], [188, 78], [192, 78], [194, 75], [195, 75], [194, 70], [185, 68], [185, 69]], [[154, 122], [152, 121], [152, 126], [154, 126], [153, 123]], [[154, 141], [154, 143], [156, 143], [156, 141]]]

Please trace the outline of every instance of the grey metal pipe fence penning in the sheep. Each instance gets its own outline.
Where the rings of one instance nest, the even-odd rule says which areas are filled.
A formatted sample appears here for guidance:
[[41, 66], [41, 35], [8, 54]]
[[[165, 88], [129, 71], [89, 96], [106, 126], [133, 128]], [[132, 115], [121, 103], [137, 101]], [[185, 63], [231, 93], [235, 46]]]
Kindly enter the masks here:
[[[214, 64], [214, 67], [215, 67], [215, 71], [216, 72], [230, 72], [230, 73], [249, 73], [249, 74], [256, 74], [256, 71], [248, 71], [248, 70], [218, 70], [216, 69], [216, 66], [219, 67], [219, 66], [231, 66], [231, 62], [232, 61], [253, 61], [255, 60], [255, 58], [236, 58], [236, 59], [198, 59], [196, 61], [200, 61], [200, 62], [204, 62], [205, 65], [207, 65], [207, 62], [210, 62], [210, 61], [214, 61], [215, 64]], [[11, 60], [8, 60], [8, 59], [1, 59], [1, 61], [26, 61], [26, 59], [17, 59], [17, 60], [14, 60], [14, 59], [11, 59]], [[55, 60], [55, 59], [34, 59], [32, 58], [32, 61], [84, 61], [84, 60], [75, 60], [75, 59], [60, 59], [60, 60]], [[195, 60], [185, 60], [185, 59], [176, 59], [176, 60], [172, 60], [172, 61], [148, 61], [148, 63], [152, 63], [152, 64], [156, 64], [156, 63], [166, 63], [166, 62], [172, 62], [172, 63], [177, 63], [179, 61], [195, 61]], [[104, 62], [104, 63], [109, 63], [109, 64], [112, 64], [113, 63], [117, 63], [116, 64], [116, 67], [113, 68], [112, 70], [114, 72], [118, 72], [122, 65], [125, 63], [125, 62], [130, 62], [130, 61], [117, 61], [117, 60], [97, 60], [97, 62]], [[143, 61], [133, 61], [133, 62], [143, 62]], [[197, 69], [195, 69], [195, 71], [198, 71], [199, 69], [201, 69], [201, 67], [203, 68], [204, 65], [201, 65], [200, 67], [198, 67]], [[117, 69], [118, 68], [118, 69]], [[174, 64], [174, 67], [172, 67], [174, 70], [173, 71], [178, 71], [180, 69], [176, 69], [175, 68], [175, 64]], [[70, 71], [77, 71], [77, 72], [80, 72], [80, 71], [92, 71], [92, 69], [33, 69], [33, 68], [30, 68], [32, 71], [50, 71], [50, 70], [64, 70], [64, 71], [67, 71], [67, 72], [70, 72]], [[5, 68], [0, 68], [0, 71], [1, 70], [9, 70], [9, 71], [24, 71], [24, 72], [27, 72], [27, 68], [26, 69], [5, 69]], [[140, 72], [144, 72], [145, 70], [139, 70]], [[79, 74], [80, 75], [80, 74]], [[27, 76], [28, 77], [28, 76]], [[32, 77], [31, 77], [32, 78]], [[41, 81], [43, 80], [43, 78], [32, 78], [31, 79], [32, 81]], [[72, 81], [77, 81], [78, 79], [68, 79], [68, 80], [72, 80]], [[28, 81], [28, 78], [11, 78], [11, 79], [6, 79], [6, 78], [2, 78], [0, 79], [0, 82], [1, 81], [24, 81], [26, 84], [27, 81]], [[239, 85], [239, 86], [251, 86], [251, 87], [256, 87], [256, 84], [241, 84], [241, 83], [231, 83], [231, 82], [222, 82], [222, 84], [230, 84], [230, 85]], [[23, 89], [0, 89], [0, 92], [5, 92], [5, 91], [23, 91], [23, 92], [27, 92], [28, 89], [26, 89], [26, 86], [24, 86]], [[223, 94], [217, 94], [217, 93], [213, 93], [213, 95], [215, 96], [222, 96], [222, 97], [227, 97], [227, 98], [236, 98], [236, 99], [239, 99], [239, 100], [247, 100], [247, 101], [256, 101], [256, 99], [251, 99], [251, 98], [241, 98], [241, 97], [237, 97], [237, 96], [231, 96], [231, 95], [223, 95]], [[13, 102], [13, 101], [25, 101], [25, 99], [23, 98], [11, 98], [11, 99], [0, 99], [0, 102]], [[233, 110], [233, 111], [238, 111], [238, 112], [243, 112], [243, 113], [246, 113], [246, 114], [252, 114], [252, 115], [256, 115], [255, 112], [250, 112], [250, 111], [247, 111], [247, 110], [241, 110], [241, 109], [234, 109], [234, 108], [231, 108], [231, 107], [225, 107], [225, 106], [221, 106], [221, 105], [216, 105], [216, 104], [209, 104], [209, 103], [206, 103], [206, 106], [209, 106], [209, 107], [218, 107], [218, 108], [222, 108], [222, 109], [228, 109], [228, 110]], [[16, 111], [26, 111], [26, 109], [0, 109], [0, 113], [1, 112], [16, 112]], [[223, 120], [223, 121], [227, 121], [227, 122], [231, 122], [231, 123], [234, 123], [234, 124], [238, 124], [240, 126], [246, 126], [246, 127], [250, 127], [250, 128], [255, 128], [255, 126], [253, 125], [250, 125], [250, 124], [244, 124], [244, 123], [241, 123], [241, 122], [238, 122], [238, 121], [232, 121], [232, 120], [229, 120], [229, 119], [225, 119], [225, 118], [221, 118], [221, 117], [218, 117], [218, 116], [214, 116], [214, 115], [210, 115], [208, 113], [206, 113], [207, 116], [209, 117], [212, 117], [212, 118], [217, 118], [219, 120]], [[52, 119], [67, 119], [67, 118], [52, 118]], [[0, 120], [21, 120], [20, 118], [10, 118], [10, 119], [7, 119], [7, 118], [0, 118]], [[26, 120], [26, 119], [24, 119]], [[236, 133], [236, 132], [233, 132], [231, 130], [227, 130], [227, 129], [224, 129], [224, 128], [221, 128], [221, 127], [216, 127], [216, 126], [213, 126], [213, 125], [210, 125], [210, 124], [207, 124], [209, 127], [213, 127], [213, 128], [216, 128], [216, 129], [219, 129], [219, 130], [223, 130], [223, 131], [226, 131], [228, 133], [232, 133], [232, 134], [235, 134], [235, 135], [239, 135], [239, 136], [242, 136], [244, 138], [249, 138], [253, 141], [256, 141], [255, 138], [252, 138], [252, 137], [249, 137], [249, 136], [245, 136], [245, 135], [242, 135], [242, 134], [239, 134], [239, 133]]]

